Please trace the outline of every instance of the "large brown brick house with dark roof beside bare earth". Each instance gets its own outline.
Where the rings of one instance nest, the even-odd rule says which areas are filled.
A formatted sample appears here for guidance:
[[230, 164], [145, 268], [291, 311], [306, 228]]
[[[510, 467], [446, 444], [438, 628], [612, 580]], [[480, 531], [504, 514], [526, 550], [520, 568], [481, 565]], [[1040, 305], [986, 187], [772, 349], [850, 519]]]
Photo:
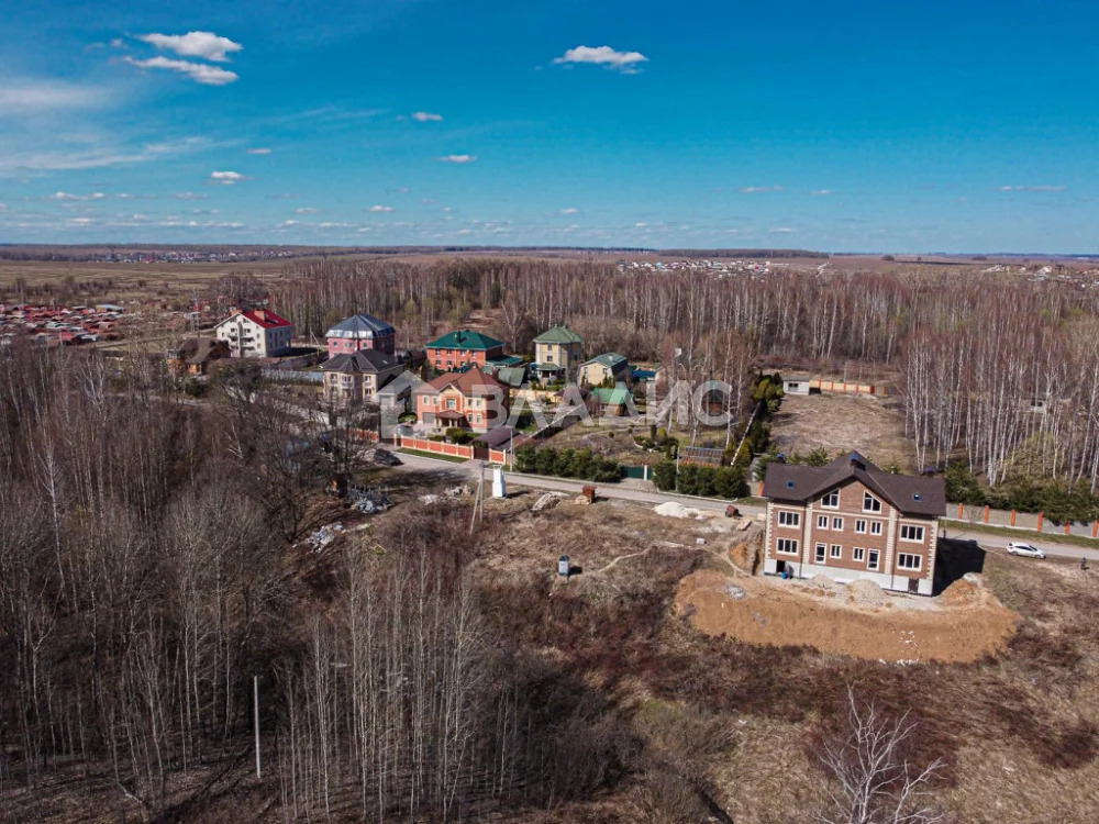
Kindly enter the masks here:
[[763, 494], [764, 572], [932, 594], [942, 479], [884, 472], [851, 453], [823, 467], [770, 464]]

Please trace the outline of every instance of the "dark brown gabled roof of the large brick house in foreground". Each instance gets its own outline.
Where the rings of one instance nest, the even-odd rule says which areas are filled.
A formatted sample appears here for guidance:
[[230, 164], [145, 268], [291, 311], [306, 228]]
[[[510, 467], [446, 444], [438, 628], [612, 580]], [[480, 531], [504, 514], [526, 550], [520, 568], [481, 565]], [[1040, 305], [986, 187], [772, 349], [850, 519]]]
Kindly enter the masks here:
[[882, 472], [856, 452], [822, 467], [769, 464], [763, 494], [777, 501], [807, 503], [852, 480], [859, 481], [903, 514], [939, 516], [946, 511], [946, 488], [941, 478]]

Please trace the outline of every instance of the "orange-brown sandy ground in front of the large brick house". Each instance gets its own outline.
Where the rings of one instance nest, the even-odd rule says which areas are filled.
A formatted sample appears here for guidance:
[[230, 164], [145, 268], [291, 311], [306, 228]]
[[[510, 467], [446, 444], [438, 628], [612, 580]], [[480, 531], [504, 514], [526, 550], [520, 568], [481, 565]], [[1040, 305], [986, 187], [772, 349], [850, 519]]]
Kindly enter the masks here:
[[679, 584], [676, 605], [708, 635], [886, 661], [973, 661], [1001, 648], [1018, 620], [965, 580], [934, 600], [875, 589], [699, 570]]

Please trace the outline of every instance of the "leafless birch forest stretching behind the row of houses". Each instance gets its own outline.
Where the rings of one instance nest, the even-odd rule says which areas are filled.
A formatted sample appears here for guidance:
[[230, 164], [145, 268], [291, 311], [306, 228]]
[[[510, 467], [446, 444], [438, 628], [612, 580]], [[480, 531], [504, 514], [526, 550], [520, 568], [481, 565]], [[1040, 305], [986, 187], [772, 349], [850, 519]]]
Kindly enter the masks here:
[[696, 378], [741, 381], [745, 349], [757, 361], [884, 369], [897, 376], [920, 465], [964, 461], [992, 486], [1013, 472], [1083, 480], [1092, 491], [1099, 483], [1099, 289], [1089, 276], [912, 266], [718, 277], [579, 261], [325, 260], [289, 264], [273, 297], [315, 335], [334, 318], [369, 311], [395, 319], [414, 345], [493, 310], [495, 331], [515, 350], [567, 321], [592, 353], [668, 363], [680, 347]]

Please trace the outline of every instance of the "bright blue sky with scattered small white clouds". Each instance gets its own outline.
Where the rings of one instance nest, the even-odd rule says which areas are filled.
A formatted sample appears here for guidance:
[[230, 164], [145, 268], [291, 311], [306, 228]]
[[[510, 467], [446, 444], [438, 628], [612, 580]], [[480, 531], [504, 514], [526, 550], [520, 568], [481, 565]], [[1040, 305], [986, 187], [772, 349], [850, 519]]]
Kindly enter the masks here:
[[1095, 2], [3, 5], [0, 242], [1099, 252]]

